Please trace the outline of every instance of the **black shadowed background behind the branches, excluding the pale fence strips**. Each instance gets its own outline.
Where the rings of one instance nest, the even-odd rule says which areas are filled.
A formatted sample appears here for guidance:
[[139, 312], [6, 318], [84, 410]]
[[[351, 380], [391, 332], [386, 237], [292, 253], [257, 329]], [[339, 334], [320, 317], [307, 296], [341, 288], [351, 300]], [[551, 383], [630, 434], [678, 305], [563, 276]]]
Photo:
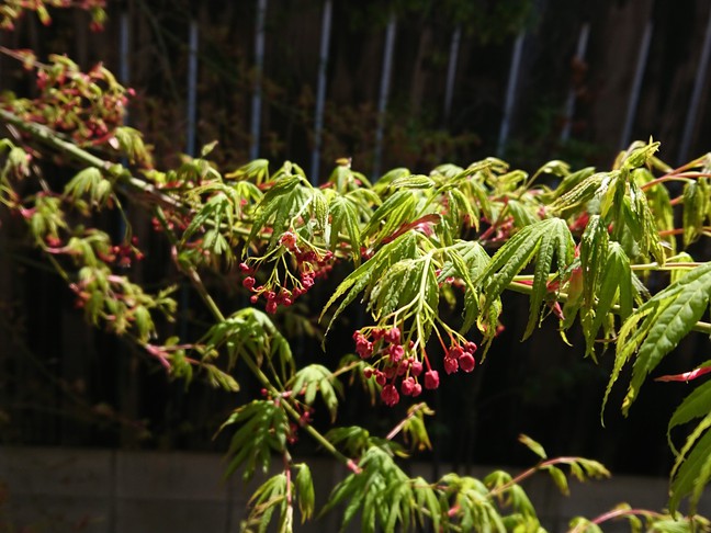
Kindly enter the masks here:
[[[120, 21], [131, 29], [128, 83], [138, 91], [131, 124], [156, 148], [159, 165], [176, 162], [185, 147], [188, 27], [200, 27], [198, 123], [200, 144], [219, 140], [215, 158], [227, 169], [248, 159], [251, 94], [256, 71], [253, 42], [256, 1], [110, 2], [102, 33], [88, 30], [84, 13], [57, 13], [52, 27], [25, 19], [18, 31], [0, 34], [10, 47], [31, 47], [40, 57], [67, 53], [87, 67], [104, 60], [121, 69]], [[471, 10], [461, 10], [469, 4]], [[320, 39], [320, 0], [272, 0], [266, 22], [260, 157], [275, 169], [290, 159], [308, 168], [314, 143], [314, 104]], [[478, 10], [478, 11], [476, 11]], [[662, 140], [662, 158], [676, 163], [687, 121], [701, 45], [711, 4], [689, 1], [526, 1], [335, 2], [327, 101], [324, 117], [321, 177], [338, 157], [353, 158], [366, 174], [373, 167], [377, 99], [385, 27], [397, 15], [394, 70], [385, 116], [381, 168], [408, 167], [426, 172], [451, 161], [467, 165], [494, 155], [504, 113], [511, 46], [526, 32], [511, 128], [504, 157], [534, 170], [552, 158], [574, 166], [606, 168], [622, 148], [620, 134], [644, 25], [653, 21], [650, 59], [632, 128], [632, 139], [650, 135]], [[574, 59], [585, 22], [590, 37], [585, 58]], [[451, 35], [463, 29], [453, 106], [443, 114], [445, 72]], [[27, 87], [10, 59], [0, 59], [2, 89]], [[24, 80], [24, 81], [23, 81]], [[708, 88], [708, 80], [704, 80]], [[564, 102], [575, 94], [572, 134], [561, 140]], [[711, 121], [703, 91], [689, 157], [708, 150]], [[57, 177], [56, 179], [61, 179]], [[3, 213], [0, 233], [0, 423], [4, 443], [123, 446], [162, 450], [225, 449], [215, 428], [238, 402], [256, 393], [247, 377], [236, 397], [205, 384], [170, 383], [162, 370], [120, 339], [87, 327], [61, 281], [27, 250], [16, 227]], [[133, 214], [135, 231], [148, 259], [132, 275], [150, 284], [176, 275], [166, 271], [167, 252], [151, 237], [149, 225]], [[111, 223], [111, 222], [110, 222]], [[692, 250], [709, 258], [708, 245]], [[343, 272], [336, 270], [325, 286], [303, 304], [304, 315], [320, 310], [329, 287]], [[229, 283], [233, 282], [230, 285]], [[226, 311], [245, 302], [237, 280], [213, 280]], [[193, 295], [176, 328], [193, 338], [207, 317]], [[684, 384], [645, 384], [623, 420], [616, 390], [599, 423], [602, 393], [611, 354], [600, 364], [584, 360], [579, 332], [566, 345], [546, 325], [520, 343], [528, 300], [505, 300], [506, 331], [487, 361], [472, 375], [450, 376], [428, 402], [438, 417], [430, 423], [433, 464], [530, 463], [516, 436], [526, 432], [550, 454], [584, 455], [619, 473], [666, 475], [670, 453], [666, 422], [685, 393]], [[458, 310], [442, 309], [456, 320]], [[357, 309], [347, 314], [362, 316]], [[280, 320], [286, 320], [281, 317]], [[331, 334], [328, 352], [318, 342], [293, 339], [301, 361], [336, 365], [352, 349], [354, 320]], [[690, 336], [658, 370], [682, 372], [708, 359], [709, 341]], [[386, 433], [405, 407], [373, 410], [365, 396], [349, 393], [339, 423], [364, 423]], [[326, 422], [324, 420], [324, 422]], [[315, 452], [308, 442], [304, 453]]]

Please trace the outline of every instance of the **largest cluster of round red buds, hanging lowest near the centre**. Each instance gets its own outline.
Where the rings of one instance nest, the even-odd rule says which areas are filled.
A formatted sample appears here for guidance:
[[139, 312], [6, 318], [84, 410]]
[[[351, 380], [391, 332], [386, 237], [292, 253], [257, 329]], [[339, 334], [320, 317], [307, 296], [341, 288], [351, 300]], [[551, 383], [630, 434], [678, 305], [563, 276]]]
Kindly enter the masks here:
[[[363, 374], [369, 379], [374, 378], [383, 387], [381, 390], [383, 402], [392, 407], [399, 401], [400, 394], [414, 398], [422, 394], [419, 378], [422, 376], [424, 365], [411, 354], [408, 355], [413, 348], [411, 341], [405, 345], [397, 327], [373, 328], [365, 331], [366, 333], [362, 330], [353, 333], [356, 352], [361, 359], [380, 355], [380, 359], [372, 366], [368, 366]], [[431, 389], [439, 386], [437, 371], [428, 370], [424, 373], [424, 377], [425, 388]]]

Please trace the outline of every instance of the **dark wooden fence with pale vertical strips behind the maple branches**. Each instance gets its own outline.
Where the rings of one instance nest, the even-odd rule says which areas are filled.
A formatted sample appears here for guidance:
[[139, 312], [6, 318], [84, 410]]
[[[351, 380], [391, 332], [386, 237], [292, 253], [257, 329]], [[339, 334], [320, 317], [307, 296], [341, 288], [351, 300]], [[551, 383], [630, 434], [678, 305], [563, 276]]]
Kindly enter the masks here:
[[[342, 156], [376, 177], [395, 166], [427, 171], [436, 161], [466, 165], [494, 154], [520, 165], [556, 157], [605, 167], [630, 140], [650, 135], [663, 141], [662, 157], [672, 163], [711, 146], [711, 2], [538, 1], [523, 24], [487, 41], [443, 16], [437, 2], [426, 14], [356, 0], [193, 3], [110, 2], [102, 33], [90, 33], [80, 14], [60, 15], [49, 29], [25, 20], [1, 39], [41, 54], [66, 52], [83, 65], [105, 58], [123, 82], [138, 89], [129, 121], [159, 155], [176, 148], [195, 154], [218, 139], [216, 157], [228, 165], [291, 159], [314, 182]], [[0, 60], [0, 88], [18, 82], [8, 75], [12, 69], [9, 59]], [[5, 441], [221, 445], [210, 436], [229, 398], [166, 383], [133, 349], [88, 330], [61, 284], [19, 262], [3, 231], [0, 249], [7, 252], [0, 257]], [[574, 420], [551, 452], [592, 454], [630, 470], [668, 470], [668, 417], [659, 410], [673, 406], [668, 398], [648, 394], [651, 409], [657, 409], [653, 422], [634, 413], [629, 422], [608, 422], [609, 432], [627, 433], [630, 441], [641, 428], [656, 432], [658, 446], [648, 446], [647, 454], [611, 446], [599, 428], [591, 429], [605, 371], [551, 349], [562, 345], [554, 331], [519, 344], [524, 308], [509, 320], [514, 333], [495, 347], [509, 359], [497, 362], [493, 353], [487, 379], [514, 388], [501, 396], [478, 383], [489, 397], [476, 404], [466, 394], [465, 407], [477, 415], [465, 423], [448, 421], [443, 409], [452, 423], [437, 431], [450, 442], [451, 457], [471, 461], [477, 450], [479, 461], [505, 460], [511, 449], [501, 441], [474, 445], [501, 420], [501, 439], [512, 446], [527, 424], [555, 433], [563, 420]], [[571, 389], [562, 381], [548, 396], [535, 396], [529, 410], [521, 408], [526, 379], [538, 376], [551, 386], [546, 367], [560, 367], [573, 376], [565, 383], [577, 385]], [[580, 399], [583, 388], [592, 399]], [[551, 395], [576, 401], [550, 410], [541, 401]], [[506, 399], [514, 396], [516, 401]], [[442, 398], [439, 407], [451, 400]]]

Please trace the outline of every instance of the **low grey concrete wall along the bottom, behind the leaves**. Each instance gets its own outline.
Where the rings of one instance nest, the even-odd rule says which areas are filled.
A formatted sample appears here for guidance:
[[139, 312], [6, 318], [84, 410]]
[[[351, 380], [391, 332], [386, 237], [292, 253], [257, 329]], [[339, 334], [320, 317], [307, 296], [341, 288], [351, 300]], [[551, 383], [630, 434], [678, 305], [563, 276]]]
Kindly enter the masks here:
[[[256, 486], [222, 478], [218, 455], [48, 447], [0, 449], [0, 531], [25, 533], [223, 533], [239, 531], [247, 500]], [[414, 475], [430, 478], [428, 465]], [[484, 476], [492, 468], [477, 467]], [[342, 477], [330, 461], [312, 464], [317, 500]], [[562, 497], [543, 475], [526, 487], [549, 531], [566, 531], [572, 517], [596, 517], [621, 501], [635, 508], [662, 509], [667, 480], [618, 476], [609, 480], [572, 481]], [[711, 515], [711, 499], [701, 512]], [[297, 532], [338, 531], [338, 517], [296, 524]], [[14, 529], [13, 529], [14, 528]], [[24, 530], [22, 528], [25, 528]], [[607, 531], [629, 531], [607, 524]]]

